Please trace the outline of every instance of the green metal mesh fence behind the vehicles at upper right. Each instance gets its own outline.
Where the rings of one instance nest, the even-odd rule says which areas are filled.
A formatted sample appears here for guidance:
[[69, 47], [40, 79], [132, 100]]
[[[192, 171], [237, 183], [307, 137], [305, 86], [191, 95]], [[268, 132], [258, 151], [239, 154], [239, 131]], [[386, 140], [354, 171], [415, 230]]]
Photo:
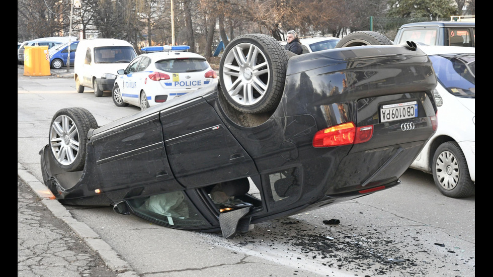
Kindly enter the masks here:
[[[436, 21], [449, 21], [450, 19], [438, 19]], [[435, 21], [429, 18], [396, 18], [396, 17], [370, 17], [370, 31], [384, 34], [390, 40], [395, 39], [400, 26], [407, 23]]]

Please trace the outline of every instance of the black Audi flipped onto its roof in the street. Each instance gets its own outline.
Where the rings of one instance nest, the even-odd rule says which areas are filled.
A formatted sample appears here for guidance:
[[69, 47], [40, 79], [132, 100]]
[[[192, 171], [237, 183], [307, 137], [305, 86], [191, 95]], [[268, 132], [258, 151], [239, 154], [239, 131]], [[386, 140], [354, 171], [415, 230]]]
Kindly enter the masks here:
[[83, 108], [58, 111], [40, 152], [46, 186], [63, 204], [231, 237], [396, 186], [436, 129], [436, 77], [412, 46], [289, 57], [244, 35], [219, 75], [101, 127]]

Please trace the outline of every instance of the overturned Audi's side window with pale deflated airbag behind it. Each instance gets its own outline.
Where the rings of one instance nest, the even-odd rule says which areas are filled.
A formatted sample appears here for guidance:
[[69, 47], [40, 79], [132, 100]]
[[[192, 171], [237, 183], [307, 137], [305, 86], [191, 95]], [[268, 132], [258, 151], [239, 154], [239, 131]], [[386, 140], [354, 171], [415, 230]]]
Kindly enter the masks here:
[[161, 224], [178, 227], [208, 225], [182, 191], [133, 199], [127, 203], [137, 215]]

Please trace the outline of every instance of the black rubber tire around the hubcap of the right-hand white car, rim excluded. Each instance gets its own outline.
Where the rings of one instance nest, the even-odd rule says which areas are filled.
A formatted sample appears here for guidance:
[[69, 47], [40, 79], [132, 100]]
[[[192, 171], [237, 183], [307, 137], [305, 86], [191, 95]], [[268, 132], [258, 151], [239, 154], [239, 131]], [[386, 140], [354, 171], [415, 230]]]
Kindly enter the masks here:
[[[459, 180], [454, 189], [448, 191], [442, 188], [440, 182], [437, 178], [437, 158], [443, 151], [450, 151], [455, 156], [458, 165], [459, 165]], [[471, 176], [469, 175], [469, 168], [467, 166], [467, 161], [460, 149], [459, 145], [453, 141], [447, 141], [438, 146], [435, 154], [433, 155], [432, 161], [432, 171], [433, 171], [433, 179], [435, 180], [435, 185], [438, 190], [445, 196], [451, 198], [465, 198], [473, 195], [475, 193], [475, 183], [471, 180]]]

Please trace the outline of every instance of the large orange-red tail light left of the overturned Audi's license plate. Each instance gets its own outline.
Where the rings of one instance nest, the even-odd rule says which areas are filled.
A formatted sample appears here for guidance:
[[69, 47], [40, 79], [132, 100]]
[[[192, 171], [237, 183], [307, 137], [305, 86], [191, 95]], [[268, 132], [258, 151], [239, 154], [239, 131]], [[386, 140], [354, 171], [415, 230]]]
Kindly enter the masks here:
[[346, 122], [315, 133], [313, 147], [331, 147], [367, 142], [373, 136], [373, 125], [355, 127]]

